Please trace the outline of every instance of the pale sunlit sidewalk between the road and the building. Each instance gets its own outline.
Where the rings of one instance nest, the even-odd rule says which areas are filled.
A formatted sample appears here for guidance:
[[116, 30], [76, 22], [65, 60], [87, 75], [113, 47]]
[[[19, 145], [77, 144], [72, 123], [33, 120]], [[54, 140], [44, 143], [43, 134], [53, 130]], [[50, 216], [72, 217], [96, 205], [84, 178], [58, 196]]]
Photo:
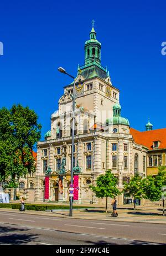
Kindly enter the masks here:
[[[28, 202], [29, 203], [29, 202]], [[64, 204], [63, 204], [64, 205]], [[69, 204], [66, 204], [69, 205]], [[76, 204], [78, 205], [78, 204]], [[158, 205], [137, 205], [133, 210], [133, 205], [119, 205], [117, 207], [118, 217], [111, 218], [112, 207], [108, 206], [108, 213], [105, 213], [105, 205], [81, 204], [84, 209], [73, 209], [72, 217], [69, 216], [69, 209], [34, 211], [26, 210], [22, 214], [45, 215], [50, 217], [93, 219], [93, 220], [113, 220], [117, 222], [141, 222], [166, 224], [166, 211], [163, 216], [162, 207]], [[94, 206], [95, 208], [89, 208]], [[0, 212], [20, 213], [18, 209], [0, 208]]]

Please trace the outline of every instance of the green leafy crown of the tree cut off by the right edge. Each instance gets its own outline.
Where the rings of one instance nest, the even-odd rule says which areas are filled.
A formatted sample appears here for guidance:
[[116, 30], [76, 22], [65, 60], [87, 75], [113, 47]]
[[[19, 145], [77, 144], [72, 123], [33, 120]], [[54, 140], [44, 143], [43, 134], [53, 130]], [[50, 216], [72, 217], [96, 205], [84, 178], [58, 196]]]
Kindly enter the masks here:
[[162, 187], [166, 185], [166, 170], [165, 167], [158, 167], [157, 175], [148, 175], [143, 180], [142, 188], [144, 198], [154, 201], [159, 201], [162, 197]]

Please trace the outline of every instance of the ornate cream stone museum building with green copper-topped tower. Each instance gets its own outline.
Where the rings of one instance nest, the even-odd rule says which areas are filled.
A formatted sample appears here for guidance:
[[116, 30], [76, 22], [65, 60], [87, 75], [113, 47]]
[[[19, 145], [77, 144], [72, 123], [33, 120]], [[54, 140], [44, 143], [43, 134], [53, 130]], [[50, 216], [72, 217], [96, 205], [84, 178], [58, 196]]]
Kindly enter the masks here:
[[[119, 90], [111, 83], [101, 62], [101, 43], [94, 27], [85, 43], [85, 65], [78, 67], [75, 79], [74, 175], [79, 175], [77, 203], [98, 203], [89, 188], [107, 169], [118, 177], [118, 188], [134, 172], [146, 176], [143, 156], [147, 148], [134, 143], [129, 122], [121, 117]], [[59, 109], [51, 115], [51, 129], [45, 141], [38, 142], [35, 200], [43, 201], [45, 172], [50, 168], [49, 200], [69, 202], [71, 169], [72, 93], [74, 83], [64, 87]], [[137, 161], [138, 159], [138, 161]], [[123, 203], [123, 195], [118, 198]]]

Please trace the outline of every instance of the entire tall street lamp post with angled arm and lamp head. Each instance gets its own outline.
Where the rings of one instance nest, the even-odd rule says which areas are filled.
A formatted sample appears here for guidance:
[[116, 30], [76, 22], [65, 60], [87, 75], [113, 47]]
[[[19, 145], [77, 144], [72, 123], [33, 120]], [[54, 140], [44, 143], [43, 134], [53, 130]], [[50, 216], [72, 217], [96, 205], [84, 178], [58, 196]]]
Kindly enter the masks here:
[[[68, 74], [64, 68], [59, 67], [58, 71], [64, 74], [67, 74], [69, 77], [71, 77], [74, 80], [74, 86], [73, 86], [73, 101], [72, 101], [72, 147], [71, 147], [71, 185], [73, 185], [73, 163], [74, 163], [74, 129], [75, 129], [75, 78]], [[72, 197], [69, 194], [69, 200], [70, 200], [70, 216], [72, 216]]]

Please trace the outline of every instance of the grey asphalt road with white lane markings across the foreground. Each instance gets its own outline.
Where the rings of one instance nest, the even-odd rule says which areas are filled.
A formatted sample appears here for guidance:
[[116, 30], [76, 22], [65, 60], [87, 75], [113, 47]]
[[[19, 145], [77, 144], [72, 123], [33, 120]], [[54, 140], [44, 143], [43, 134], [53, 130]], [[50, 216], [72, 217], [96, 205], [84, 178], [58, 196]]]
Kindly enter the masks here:
[[0, 245], [166, 244], [166, 225], [0, 213]]

